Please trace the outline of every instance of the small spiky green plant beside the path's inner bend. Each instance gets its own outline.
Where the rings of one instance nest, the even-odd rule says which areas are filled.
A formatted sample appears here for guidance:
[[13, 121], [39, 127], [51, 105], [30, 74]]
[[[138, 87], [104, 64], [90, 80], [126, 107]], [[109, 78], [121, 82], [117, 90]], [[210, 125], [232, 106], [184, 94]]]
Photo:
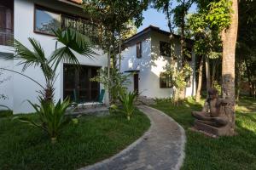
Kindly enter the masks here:
[[131, 116], [135, 110], [134, 100], [137, 98], [136, 92], [129, 92], [123, 91], [119, 94], [119, 101], [122, 104], [121, 112], [125, 113], [127, 120], [130, 121]]

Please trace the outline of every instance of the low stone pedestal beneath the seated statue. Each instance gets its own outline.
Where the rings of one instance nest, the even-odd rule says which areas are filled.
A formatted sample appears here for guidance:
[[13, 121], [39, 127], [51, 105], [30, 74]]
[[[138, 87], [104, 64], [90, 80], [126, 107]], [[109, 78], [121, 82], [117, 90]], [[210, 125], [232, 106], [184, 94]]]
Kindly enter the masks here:
[[201, 130], [207, 133], [211, 133], [216, 136], [231, 136], [233, 133], [230, 132], [230, 126], [224, 127], [212, 127], [211, 125], [207, 125], [201, 123], [200, 121], [195, 120], [194, 126], [197, 130]]

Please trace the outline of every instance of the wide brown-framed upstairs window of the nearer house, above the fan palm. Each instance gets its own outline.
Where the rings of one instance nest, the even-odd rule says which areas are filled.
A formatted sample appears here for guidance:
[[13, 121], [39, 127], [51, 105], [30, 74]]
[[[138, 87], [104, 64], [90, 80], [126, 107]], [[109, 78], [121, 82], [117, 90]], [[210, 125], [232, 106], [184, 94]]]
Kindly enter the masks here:
[[34, 31], [47, 35], [54, 35], [53, 30], [71, 27], [82, 34], [86, 34], [95, 41], [98, 28], [90, 20], [79, 16], [56, 12], [48, 8], [36, 6]]

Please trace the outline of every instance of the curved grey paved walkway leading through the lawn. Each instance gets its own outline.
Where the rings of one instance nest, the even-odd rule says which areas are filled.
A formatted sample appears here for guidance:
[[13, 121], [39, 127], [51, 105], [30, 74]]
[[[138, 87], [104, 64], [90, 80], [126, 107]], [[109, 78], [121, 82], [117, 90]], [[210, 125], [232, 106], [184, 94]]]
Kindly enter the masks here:
[[144, 105], [138, 108], [151, 121], [148, 132], [116, 156], [83, 170], [165, 170], [181, 167], [185, 143], [183, 127], [161, 111]]

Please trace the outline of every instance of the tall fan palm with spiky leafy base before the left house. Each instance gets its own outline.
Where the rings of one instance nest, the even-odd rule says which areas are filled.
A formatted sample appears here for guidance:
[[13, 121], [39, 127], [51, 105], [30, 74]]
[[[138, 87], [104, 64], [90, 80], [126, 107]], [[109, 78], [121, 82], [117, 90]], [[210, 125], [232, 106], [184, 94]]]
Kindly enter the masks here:
[[[65, 99], [62, 103], [61, 100], [54, 103], [54, 83], [56, 80], [55, 71], [61, 62], [67, 62], [69, 64], [79, 65], [79, 60], [73, 54], [73, 51], [91, 58], [92, 54], [96, 54], [91, 50], [89, 38], [74, 31], [73, 29], [67, 29], [65, 31], [54, 31], [56, 37], [55, 51], [47, 58], [44, 54], [44, 49], [41, 44], [34, 38], [28, 38], [32, 45], [32, 50], [26, 48], [18, 40], [14, 41], [15, 54], [11, 59], [19, 59], [18, 65], [23, 65], [22, 71], [25, 71], [30, 66], [39, 66], [44, 74], [45, 85], [42, 86], [39, 82], [36, 82], [31, 77], [14, 71], [24, 77], [29, 78], [33, 82], [36, 82], [43, 90], [39, 91], [40, 105], [32, 104], [36, 113], [39, 116], [40, 122], [33, 122], [31, 119], [24, 117], [18, 117], [21, 122], [26, 122], [34, 127], [40, 127], [45, 132], [49, 133], [52, 143], [55, 143], [56, 137], [61, 131], [61, 128], [67, 125], [71, 120], [65, 113], [67, 108], [71, 106], [69, 99]], [[61, 48], [57, 48], [57, 43], [61, 42]], [[7, 70], [7, 69], [5, 69]]]

